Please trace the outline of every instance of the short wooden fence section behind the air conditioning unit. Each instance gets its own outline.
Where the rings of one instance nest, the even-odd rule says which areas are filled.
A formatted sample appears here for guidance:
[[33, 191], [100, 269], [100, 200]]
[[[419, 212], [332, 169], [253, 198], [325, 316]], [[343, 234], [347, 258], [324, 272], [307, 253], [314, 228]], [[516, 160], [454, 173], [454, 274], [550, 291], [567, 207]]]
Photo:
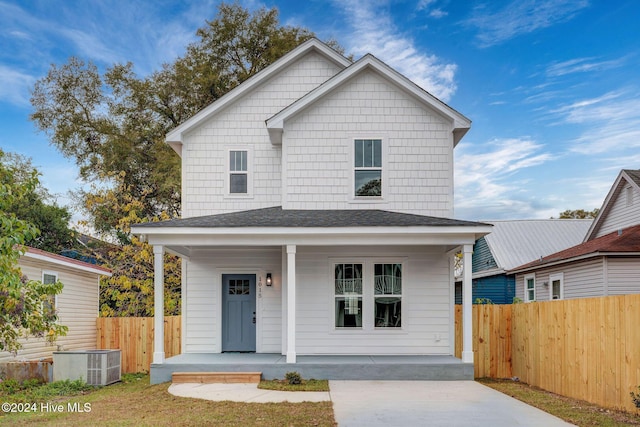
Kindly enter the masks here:
[[[164, 318], [165, 357], [180, 354], [181, 316]], [[99, 317], [96, 348], [120, 349], [122, 373], [149, 372], [153, 360], [153, 317]]]

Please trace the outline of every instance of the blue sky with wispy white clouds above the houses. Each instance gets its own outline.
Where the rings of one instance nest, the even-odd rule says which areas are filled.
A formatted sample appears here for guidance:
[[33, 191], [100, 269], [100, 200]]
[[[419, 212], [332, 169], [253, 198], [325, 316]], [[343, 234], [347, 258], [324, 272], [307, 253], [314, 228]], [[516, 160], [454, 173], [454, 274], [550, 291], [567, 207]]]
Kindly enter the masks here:
[[[455, 217], [549, 218], [600, 207], [640, 168], [640, 2], [243, 1], [372, 53], [473, 121], [455, 150]], [[184, 52], [217, 1], [0, 0], [0, 147], [33, 158], [69, 203], [73, 162], [29, 121], [30, 89], [78, 56], [139, 75]]]

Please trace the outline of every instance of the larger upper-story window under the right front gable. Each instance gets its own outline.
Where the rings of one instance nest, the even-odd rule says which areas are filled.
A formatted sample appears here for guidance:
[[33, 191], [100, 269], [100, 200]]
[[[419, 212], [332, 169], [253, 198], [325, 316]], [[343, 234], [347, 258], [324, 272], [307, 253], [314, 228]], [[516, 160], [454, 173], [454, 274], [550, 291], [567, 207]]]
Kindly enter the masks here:
[[382, 140], [356, 139], [355, 188], [356, 197], [382, 196]]

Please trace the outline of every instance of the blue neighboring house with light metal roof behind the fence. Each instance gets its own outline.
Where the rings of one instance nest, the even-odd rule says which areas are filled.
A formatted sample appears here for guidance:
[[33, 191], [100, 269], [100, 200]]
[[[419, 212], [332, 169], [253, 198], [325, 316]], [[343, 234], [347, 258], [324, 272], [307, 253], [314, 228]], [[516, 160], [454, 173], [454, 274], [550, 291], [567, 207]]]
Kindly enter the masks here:
[[[584, 240], [591, 219], [542, 219], [486, 221], [491, 234], [473, 246], [473, 301], [511, 304], [515, 275], [507, 270], [577, 245]], [[462, 304], [461, 284], [456, 283], [455, 302]]]

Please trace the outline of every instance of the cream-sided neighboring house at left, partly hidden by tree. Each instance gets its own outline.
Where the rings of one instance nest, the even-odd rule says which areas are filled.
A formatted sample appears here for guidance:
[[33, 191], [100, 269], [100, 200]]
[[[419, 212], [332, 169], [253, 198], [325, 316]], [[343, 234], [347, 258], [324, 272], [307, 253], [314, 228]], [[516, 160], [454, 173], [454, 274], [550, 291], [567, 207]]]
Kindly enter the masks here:
[[18, 354], [0, 352], [0, 361], [39, 360], [49, 358], [54, 351], [87, 350], [96, 347], [96, 318], [100, 297], [100, 277], [111, 276], [106, 268], [72, 258], [27, 248], [20, 257], [22, 274], [30, 280], [54, 283], [60, 280], [62, 292], [55, 297], [59, 322], [69, 328], [67, 335], [51, 345], [44, 338], [22, 339]]

